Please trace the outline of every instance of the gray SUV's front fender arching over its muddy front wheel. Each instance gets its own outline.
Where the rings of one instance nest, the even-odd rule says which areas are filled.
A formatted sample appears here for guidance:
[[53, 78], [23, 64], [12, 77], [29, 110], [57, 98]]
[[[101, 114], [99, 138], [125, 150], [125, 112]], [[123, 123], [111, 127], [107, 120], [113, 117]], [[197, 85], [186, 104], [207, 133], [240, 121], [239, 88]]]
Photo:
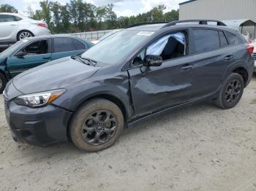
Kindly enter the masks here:
[[116, 98], [124, 105], [127, 119], [132, 117], [133, 109], [129, 99], [129, 78], [125, 75], [95, 82], [83, 80], [75, 85], [70, 85], [67, 87], [67, 92], [56, 101], [53, 101], [53, 104], [75, 112], [84, 101], [100, 95], [109, 95]]

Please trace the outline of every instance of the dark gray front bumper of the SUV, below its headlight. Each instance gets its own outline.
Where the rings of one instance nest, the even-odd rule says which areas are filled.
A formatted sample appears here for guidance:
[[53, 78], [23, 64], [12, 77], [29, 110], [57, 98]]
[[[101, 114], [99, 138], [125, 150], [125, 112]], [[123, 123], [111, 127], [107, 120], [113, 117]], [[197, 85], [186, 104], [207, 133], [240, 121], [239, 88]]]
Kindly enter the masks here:
[[52, 105], [41, 108], [18, 106], [7, 100], [4, 108], [15, 141], [41, 147], [67, 141], [71, 112]]

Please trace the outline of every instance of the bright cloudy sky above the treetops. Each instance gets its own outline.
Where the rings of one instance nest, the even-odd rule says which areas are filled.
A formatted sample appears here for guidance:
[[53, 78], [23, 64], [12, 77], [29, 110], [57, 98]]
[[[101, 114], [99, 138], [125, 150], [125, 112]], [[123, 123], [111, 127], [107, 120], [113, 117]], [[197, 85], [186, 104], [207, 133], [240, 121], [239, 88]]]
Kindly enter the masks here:
[[[56, 1], [56, 0], [55, 0]], [[104, 6], [108, 3], [115, 5], [114, 11], [119, 16], [138, 15], [142, 12], [147, 12], [152, 7], [159, 4], [165, 4], [166, 10], [178, 9], [178, 3], [185, 0], [86, 0], [86, 2], [97, 6]], [[69, 0], [59, 0], [61, 4], [66, 4]], [[31, 5], [32, 9], [39, 9], [39, 0], [0, 0], [0, 4], [11, 4], [20, 13], [26, 10], [26, 7]]]

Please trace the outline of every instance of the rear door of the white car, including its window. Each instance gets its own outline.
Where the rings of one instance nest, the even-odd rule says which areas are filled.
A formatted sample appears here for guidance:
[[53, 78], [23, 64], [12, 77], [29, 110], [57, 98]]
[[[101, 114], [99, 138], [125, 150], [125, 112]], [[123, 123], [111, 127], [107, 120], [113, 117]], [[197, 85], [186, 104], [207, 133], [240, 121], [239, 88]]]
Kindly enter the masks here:
[[18, 22], [13, 15], [0, 15], [0, 42], [12, 42], [17, 32]]

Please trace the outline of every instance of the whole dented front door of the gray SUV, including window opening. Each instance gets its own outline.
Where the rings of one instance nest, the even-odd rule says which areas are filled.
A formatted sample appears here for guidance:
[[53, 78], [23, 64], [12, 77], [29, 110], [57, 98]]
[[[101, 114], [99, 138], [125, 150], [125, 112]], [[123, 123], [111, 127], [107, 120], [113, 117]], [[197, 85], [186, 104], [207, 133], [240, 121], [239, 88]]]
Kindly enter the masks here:
[[[175, 34], [178, 35], [160, 37], [133, 59], [128, 72], [135, 114], [155, 112], [189, 101], [192, 87], [188, 31]], [[161, 55], [162, 65], [143, 66], [146, 55]]]

